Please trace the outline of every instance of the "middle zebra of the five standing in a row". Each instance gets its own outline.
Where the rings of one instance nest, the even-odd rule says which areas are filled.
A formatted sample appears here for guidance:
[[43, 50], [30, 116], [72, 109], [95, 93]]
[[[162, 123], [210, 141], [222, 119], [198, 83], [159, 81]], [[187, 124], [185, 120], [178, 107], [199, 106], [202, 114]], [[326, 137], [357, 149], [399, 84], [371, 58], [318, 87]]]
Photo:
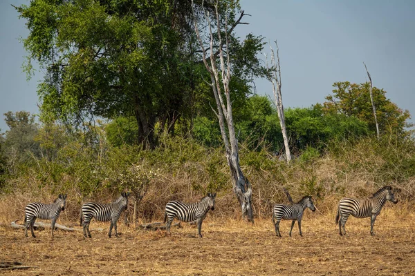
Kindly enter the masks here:
[[197, 233], [199, 237], [202, 237], [201, 228], [203, 219], [205, 219], [206, 214], [209, 210], [214, 210], [214, 199], [216, 193], [208, 193], [201, 201], [185, 204], [180, 201], [169, 201], [166, 204], [165, 209], [165, 219], [167, 233], [170, 234], [170, 226], [175, 217], [181, 221], [190, 222], [196, 221], [197, 224]]

